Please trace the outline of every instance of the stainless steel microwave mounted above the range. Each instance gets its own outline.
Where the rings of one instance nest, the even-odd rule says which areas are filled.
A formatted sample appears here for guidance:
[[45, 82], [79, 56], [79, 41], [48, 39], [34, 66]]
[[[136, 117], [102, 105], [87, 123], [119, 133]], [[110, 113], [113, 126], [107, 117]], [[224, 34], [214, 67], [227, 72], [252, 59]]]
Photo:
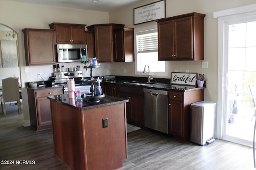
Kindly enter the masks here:
[[57, 62], [80, 62], [83, 55], [87, 54], [85, 44], [57, 44]]

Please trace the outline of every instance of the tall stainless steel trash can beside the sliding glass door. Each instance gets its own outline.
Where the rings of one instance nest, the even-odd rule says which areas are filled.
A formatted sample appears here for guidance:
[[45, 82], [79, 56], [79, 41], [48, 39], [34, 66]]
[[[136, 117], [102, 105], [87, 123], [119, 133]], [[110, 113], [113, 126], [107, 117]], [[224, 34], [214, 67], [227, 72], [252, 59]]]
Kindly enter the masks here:
[[204, 146], [214, 141], [216, 103], [196, 102], [191, 107], [190, 142]]

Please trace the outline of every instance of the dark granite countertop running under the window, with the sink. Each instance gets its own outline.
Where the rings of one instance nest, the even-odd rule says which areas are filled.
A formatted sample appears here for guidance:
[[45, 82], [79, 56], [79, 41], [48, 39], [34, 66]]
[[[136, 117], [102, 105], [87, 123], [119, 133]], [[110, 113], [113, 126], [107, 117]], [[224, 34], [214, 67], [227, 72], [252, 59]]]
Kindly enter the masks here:
[[173, 90], [173, 91], [182, 91], [187, 92], [191, 90], [199, 90], [204, 89], [206, 87], [197, 87], [197, 86], [185, 86], [185, 85], [177, 85], [177, 84], [169, 84], [169, 83], [154, 83], [154, 84], [145, 84], [145, 85], [136, 85], [136, 84], [128, 84], [125, 82], [129, 82], [130, 80], [108, 80], [104, 81], [104, 83], [111, 83], [111, 84], [119, 84], [124, 86], [139, 86], [142, 88], [150, 88], [156, 90]]

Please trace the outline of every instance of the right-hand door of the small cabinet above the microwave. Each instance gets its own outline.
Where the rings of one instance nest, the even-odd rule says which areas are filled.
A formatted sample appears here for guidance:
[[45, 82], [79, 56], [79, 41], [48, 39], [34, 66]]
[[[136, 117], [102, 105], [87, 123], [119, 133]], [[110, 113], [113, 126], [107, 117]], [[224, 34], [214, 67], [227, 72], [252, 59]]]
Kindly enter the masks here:
[[73, 44], [86, 44], [86, 36], [84, 27], [72, 26], [71, 27], [71, 37]]

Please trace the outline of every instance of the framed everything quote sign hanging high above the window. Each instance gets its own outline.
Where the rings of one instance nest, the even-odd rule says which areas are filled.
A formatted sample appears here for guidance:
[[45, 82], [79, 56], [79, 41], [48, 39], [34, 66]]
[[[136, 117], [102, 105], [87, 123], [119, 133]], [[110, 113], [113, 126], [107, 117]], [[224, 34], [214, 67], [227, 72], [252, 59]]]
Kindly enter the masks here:
[[134, 8], [133, 13], [134, 25], [166, 18], [165, 0]]

